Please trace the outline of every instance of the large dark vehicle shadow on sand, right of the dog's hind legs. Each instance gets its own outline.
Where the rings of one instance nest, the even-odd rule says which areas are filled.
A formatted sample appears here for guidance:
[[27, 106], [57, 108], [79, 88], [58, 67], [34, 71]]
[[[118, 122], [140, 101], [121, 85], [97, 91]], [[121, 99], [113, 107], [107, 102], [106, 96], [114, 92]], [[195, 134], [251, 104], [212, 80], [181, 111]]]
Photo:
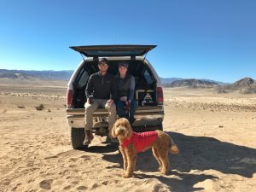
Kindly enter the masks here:
[[[181, 151], [179, 156], [172, 156], [180, 172], [212, 169], [242, 177], [253, 177], [256, 172], [256, 148], [221, 142], [212, 137], [191, 137], [175, 132], [169, 134]], [[178, 161], [183, 161], [186, 166], [178, 166]]]

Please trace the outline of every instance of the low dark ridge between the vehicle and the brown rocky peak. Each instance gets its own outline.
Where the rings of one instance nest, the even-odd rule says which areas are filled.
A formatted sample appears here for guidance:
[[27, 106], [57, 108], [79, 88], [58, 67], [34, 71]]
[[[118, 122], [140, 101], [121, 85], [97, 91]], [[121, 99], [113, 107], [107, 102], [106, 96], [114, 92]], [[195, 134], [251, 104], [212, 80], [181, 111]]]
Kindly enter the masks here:
[[191, 88], [199, 88], [199, 87], [213, 87], [217, 85], [217, 83], [208, 80], [201, 79], [182, 79], [172, 81], [170, 84], [165, 84], [165, 87], [191, 87]]

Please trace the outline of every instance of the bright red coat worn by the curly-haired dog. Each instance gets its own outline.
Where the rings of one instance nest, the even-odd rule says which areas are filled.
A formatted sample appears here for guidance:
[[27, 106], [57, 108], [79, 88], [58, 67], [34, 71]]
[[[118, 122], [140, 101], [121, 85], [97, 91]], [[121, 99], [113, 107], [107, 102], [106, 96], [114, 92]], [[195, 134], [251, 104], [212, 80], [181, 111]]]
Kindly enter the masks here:
[[156, 131], [148, 131], [142, 133], [133, 132], [131, 138], [125, 139], [125, 141], [122, 143], [122, 147], [126, 148], [130, 143], [134, 143], [138, 153], [145, 150], [149, 145], [154, 143], [157, 137], [158, 135]]

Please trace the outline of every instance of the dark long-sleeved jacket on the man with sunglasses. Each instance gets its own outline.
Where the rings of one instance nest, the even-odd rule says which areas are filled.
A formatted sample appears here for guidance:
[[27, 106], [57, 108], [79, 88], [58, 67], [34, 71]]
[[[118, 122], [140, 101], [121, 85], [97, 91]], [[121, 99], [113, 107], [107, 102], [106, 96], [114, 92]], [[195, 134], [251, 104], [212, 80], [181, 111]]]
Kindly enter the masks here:
[[116, 99], [116, 82], [113, 75], [106, 73], [101, 75], [100, 72], [90, 75], [85, 89], [85, 96], [93, 95], [95, 99]]

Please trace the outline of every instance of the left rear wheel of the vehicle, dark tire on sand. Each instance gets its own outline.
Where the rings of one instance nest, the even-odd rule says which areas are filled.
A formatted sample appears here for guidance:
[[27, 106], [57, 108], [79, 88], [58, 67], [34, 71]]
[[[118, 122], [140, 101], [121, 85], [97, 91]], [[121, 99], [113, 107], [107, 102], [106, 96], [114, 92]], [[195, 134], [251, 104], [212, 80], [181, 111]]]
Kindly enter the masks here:
[[88, 148], [88, 145], [84, 145], [84, 128], [71, 128], [71, 143], [73, 149]]

